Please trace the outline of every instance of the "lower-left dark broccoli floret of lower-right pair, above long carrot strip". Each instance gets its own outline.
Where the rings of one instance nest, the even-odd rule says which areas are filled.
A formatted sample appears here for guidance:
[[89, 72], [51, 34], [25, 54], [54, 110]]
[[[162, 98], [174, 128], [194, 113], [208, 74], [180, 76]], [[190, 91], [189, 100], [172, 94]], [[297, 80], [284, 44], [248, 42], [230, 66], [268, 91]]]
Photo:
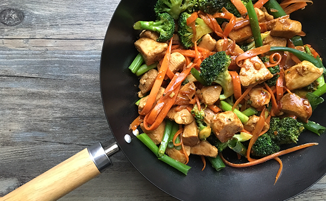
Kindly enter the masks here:
[[268, 134], [262, 134], [252, 145], [252, 155], [264, 157], [279, 151], [280, 147], [270, 138]]

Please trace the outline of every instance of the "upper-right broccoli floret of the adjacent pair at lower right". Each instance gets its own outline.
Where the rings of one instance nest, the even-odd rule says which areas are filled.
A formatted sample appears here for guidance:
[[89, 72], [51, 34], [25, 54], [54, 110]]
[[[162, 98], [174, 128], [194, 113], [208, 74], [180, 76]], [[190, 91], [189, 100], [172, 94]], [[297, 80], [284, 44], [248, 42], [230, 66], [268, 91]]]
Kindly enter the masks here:
[[269, 129], [265, 134], [269, 135], [277, 145], [289, 144], [296, 143], [303, 129], [303, 124], [294, 118], [271, 117]]

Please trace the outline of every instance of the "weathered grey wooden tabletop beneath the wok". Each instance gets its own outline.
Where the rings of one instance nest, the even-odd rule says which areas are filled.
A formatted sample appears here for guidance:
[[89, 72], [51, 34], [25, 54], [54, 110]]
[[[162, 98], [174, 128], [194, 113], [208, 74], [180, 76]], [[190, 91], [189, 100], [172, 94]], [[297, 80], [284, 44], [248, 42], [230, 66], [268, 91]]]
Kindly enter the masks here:
[[[0, 1], [0, 12], [14, 16], [0, 14], [0, 196], [97, 140], [114, 142], [99, 70], [118, 3]], [[60, 200], [176, 200], [146, 180], [122, 152], [111, 159], [111, 168]], [[325, 182], [324, 177], [290, 200], [326, 200]]]

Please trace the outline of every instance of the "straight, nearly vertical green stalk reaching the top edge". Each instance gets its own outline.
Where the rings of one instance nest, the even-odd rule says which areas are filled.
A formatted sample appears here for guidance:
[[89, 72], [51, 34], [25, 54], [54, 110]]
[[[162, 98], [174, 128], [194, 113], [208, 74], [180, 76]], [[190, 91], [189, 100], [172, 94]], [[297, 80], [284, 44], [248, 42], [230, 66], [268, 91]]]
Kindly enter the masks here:
[[262, 39], [260, 35], [260, 27], [259, 27], [259, 22], [257, 18], [257, 14], [255, 12], [255, 9], [253, 7], [252, 1], [249, 0], [249, 2], [246, 5], [247, 11], [248, 11], [248, 16], [249, 16], [249, 21], [250, 21], [250, 26], [253, 34], [253, 38], [255, 41], [255, 46], [260, 47], [262, 46]]

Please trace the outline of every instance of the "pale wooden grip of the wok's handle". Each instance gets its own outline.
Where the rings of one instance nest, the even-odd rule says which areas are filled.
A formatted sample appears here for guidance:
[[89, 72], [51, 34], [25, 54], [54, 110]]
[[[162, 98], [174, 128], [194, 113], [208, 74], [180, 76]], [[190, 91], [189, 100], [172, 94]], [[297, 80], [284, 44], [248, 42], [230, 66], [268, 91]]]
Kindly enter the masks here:
[[85, 148], [57, 166], [0, 197], [0, 201], [57, 200], [100, 174]]

